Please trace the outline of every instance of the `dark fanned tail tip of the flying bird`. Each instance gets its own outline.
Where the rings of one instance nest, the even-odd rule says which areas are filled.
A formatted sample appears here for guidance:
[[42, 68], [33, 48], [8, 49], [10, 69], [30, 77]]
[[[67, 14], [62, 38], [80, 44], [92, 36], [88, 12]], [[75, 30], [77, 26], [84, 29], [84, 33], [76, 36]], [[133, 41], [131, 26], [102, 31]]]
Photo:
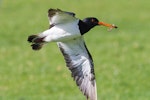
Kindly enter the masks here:
[[33, 50], [40, 50], [44, 45], [43, 38], [40, 38], [38, 35], [30, 35], [28, 42], [32, 43], [31, 47]]

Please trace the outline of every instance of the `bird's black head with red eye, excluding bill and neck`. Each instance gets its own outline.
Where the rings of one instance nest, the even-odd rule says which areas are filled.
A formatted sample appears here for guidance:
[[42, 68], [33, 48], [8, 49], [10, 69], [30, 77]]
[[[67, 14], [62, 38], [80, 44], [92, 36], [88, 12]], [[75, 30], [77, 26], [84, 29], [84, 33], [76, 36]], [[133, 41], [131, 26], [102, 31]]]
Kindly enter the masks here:
[[93, 28], [94, 26], [99, 25], [99, 20], [94, 17], [87, 17], [82, 20], [84, 23], [86, 23], [90, 28]]

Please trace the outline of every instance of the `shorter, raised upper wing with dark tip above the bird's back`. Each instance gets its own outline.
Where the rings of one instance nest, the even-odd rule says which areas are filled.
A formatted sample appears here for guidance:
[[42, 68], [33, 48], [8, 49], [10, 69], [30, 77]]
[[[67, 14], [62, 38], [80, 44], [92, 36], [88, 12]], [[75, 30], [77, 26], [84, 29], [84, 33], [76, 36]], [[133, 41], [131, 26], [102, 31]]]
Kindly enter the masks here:
[[60, 9], [49, 9], [48, 19], [49, 19], [50, 25], [53, 26], [57, 24], [71, 22], [71, 21], [76, 20], [77, 18], [75, 18], [75, 13], [73, 12], [66, 12]]

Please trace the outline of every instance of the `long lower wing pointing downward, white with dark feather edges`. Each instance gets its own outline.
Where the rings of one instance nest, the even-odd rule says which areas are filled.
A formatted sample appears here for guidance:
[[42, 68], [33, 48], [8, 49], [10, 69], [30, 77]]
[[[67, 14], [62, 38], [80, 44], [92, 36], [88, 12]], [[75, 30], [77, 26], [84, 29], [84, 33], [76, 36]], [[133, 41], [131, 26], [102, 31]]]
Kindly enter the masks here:
[[97, 100], [94, 64], [83, 38], [79, 37], [57, 44], [80, 90], [87, 99]]

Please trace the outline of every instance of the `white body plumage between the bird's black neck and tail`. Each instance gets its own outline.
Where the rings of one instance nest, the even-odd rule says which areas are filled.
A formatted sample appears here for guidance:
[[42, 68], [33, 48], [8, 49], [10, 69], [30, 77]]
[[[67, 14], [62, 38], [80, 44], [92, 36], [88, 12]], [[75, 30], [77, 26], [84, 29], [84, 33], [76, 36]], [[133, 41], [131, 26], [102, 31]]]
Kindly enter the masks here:
[[77, 23], [79, 20], [72, 21], [70, 23], [57, 24], [52, 28], [40, 33], [39, 37], [45, 37], [45, 42], [60, 42], [80, 37], [79, 27]]

